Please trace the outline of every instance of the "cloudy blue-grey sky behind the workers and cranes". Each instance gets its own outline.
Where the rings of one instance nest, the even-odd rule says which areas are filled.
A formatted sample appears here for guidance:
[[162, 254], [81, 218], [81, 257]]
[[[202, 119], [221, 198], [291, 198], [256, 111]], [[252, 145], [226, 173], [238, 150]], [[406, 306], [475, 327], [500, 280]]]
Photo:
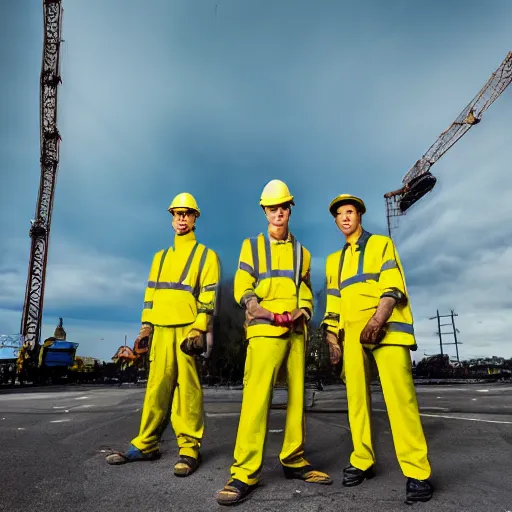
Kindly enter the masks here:
[[[262, 187], [285, 180], [319, 289], [325, 257], [343, 243], [329, 201], [363, 197], [366, 229], [385, 233], [383, 194], [512, 49], [508, 0], [63, 4], [62, 144], [42, 334], [62, 316], [79, 353], [105, 359], [138, 332], [151, 257], [172, 240], [174, 195], [196, 196], [198, 237], [231, 279], [243, 238], [265, 228]], [[0, 20], [7, 334], [19, 331], [39, 185], [41, 1], [2, 2]], [[416, 358], [438, 352], [428, 318], [451, 308], [462, 357], [512, 356], [511, 112], [512, 87], [433, 167], [438, 185], [394, 234]]]

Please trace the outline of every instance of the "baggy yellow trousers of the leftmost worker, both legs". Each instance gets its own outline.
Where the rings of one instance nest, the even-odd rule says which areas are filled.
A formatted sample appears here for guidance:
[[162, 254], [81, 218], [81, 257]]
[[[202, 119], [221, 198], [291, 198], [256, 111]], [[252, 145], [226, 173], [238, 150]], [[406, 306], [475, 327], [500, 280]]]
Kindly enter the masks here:
[[180, 455], [198, 457], [204, 431], [203, 389], [194, 358], [180, 349], [189, 331], [190, 326], [154, 328], [140, 430], [132, 441], [143, 452], [159, 448], [170, 417]]

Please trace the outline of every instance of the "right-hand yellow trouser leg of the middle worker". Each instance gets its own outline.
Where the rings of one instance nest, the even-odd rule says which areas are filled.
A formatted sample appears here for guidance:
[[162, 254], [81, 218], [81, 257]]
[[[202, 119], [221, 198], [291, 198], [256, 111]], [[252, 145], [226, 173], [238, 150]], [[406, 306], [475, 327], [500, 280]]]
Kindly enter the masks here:
[[303, 334], [290, 336], [290, 349], [286, 364], [288, 377], [288, 404], [284, 440], [279, 460], [283, 466], [303, 467], [306, 436], [304, 417], [305, 342]]

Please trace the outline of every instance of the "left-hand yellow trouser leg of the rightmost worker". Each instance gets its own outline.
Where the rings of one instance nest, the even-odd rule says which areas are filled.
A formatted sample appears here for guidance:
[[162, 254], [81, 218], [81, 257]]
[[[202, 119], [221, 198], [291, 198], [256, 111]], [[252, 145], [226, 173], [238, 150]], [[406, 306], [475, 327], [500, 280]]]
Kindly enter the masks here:
[[363, 326], [347, 326], [343, 349], [343, 368], [347, 389], [348, 419], [353, 451], [350, 464], [367, 470], [375, 463], [371, 429], [371, 389], [368, 355], [360, 343]]

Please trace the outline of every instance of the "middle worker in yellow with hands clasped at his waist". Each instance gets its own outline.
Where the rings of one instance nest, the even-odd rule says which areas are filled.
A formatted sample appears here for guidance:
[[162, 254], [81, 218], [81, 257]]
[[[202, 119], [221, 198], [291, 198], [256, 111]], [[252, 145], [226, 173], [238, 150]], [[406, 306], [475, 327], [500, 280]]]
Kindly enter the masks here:
[[246, 310], [249, 343], [235, 460], [231, 479], [217, 494], [221, 505], [242, 501], [258, 483], [272, 392], [286, 359], [288, 405], [279, 455], [284, 475], [332, 483], [304, 457], [305, 342], [313, 314], [311, 255], [288, 229], [294, 202], [285, 183], [270, 181], [260, 205], [268, 220], [268, 233], [243, 241], [235, 274], [235, 300]]

